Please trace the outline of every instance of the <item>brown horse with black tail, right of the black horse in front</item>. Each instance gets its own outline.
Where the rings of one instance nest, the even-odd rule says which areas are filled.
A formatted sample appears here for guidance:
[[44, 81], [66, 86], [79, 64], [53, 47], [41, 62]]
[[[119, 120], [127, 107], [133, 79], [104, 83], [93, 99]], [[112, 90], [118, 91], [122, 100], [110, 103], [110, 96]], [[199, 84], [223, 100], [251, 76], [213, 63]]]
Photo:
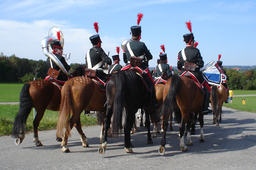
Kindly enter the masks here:
[[198, 113], [198, 119], [200, 122], [200, 139], [199, 141], [204, 141], [203, 137], [203, 103], [204, 95], [201, 89], [197, 86], [192, 78], [187, 76], [179, 77], [178, 75], [173, 75], [169, 79], [163, 91], [164, 103], [159, 109], [159, 117], [162, 117], [163, 121], [163, 138], [161, 140], [161, 146], [159, 148], [160, 155], [165, 154], [165, 136], [166, 129], [168, 126], [168, 120], [170, 115], [173, 113], [175, 108], [175, 117], [177, 123], [180, 124], [180, 147], [182, 151], [187, 151], [187, 146], [184, 144], [184, 131], [185, 125], [187, 124], [187, 145], [192, 145], [192, 140], [190, 137], [191, 123], [193, 120], [192, 112]]

